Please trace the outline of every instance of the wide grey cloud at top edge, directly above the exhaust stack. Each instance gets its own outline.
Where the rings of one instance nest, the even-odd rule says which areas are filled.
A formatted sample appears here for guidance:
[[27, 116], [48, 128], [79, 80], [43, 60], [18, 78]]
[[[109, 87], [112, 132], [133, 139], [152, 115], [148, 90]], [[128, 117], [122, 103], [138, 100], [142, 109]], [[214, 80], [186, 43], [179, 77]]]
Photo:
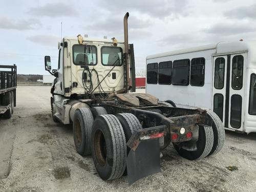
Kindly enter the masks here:
[[163, 18], [166, 16], [187, 15], [187, 0], [131, 0], [120, 1], [113, 0], [111, 4], [109, 1], [98, 0], [99, 6], [113, 12], [125, 12], [127, 10], [138, 11], [141, 14], [147, 14], [152, 17]]

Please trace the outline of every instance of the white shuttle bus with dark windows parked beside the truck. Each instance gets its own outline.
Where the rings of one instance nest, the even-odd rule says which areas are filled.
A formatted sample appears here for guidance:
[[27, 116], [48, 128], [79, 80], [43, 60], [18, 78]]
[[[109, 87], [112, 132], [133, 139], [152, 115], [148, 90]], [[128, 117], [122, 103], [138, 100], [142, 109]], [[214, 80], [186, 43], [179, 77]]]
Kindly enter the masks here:
[[228, 130], [256, 132], [256, 40], [146, 58], [146, 93], [214, 111]]

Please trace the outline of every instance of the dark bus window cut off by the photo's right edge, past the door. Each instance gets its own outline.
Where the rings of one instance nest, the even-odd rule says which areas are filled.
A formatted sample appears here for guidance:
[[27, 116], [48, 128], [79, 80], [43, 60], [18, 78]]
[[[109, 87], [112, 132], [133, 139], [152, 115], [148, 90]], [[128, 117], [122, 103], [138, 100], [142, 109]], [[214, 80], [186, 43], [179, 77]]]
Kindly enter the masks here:
[[256, 115], [256, 75], [251, 74], [250, 95], [249, 95], [249, 114]]

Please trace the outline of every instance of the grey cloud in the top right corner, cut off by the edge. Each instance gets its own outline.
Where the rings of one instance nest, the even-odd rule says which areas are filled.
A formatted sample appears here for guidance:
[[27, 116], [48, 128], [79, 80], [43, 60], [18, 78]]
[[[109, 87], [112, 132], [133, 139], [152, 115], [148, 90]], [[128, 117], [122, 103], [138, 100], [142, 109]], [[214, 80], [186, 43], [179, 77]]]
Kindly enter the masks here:
[[256, 18], [256, 4], [238, 7], [225, 13], [226, 16], [231, 18]]

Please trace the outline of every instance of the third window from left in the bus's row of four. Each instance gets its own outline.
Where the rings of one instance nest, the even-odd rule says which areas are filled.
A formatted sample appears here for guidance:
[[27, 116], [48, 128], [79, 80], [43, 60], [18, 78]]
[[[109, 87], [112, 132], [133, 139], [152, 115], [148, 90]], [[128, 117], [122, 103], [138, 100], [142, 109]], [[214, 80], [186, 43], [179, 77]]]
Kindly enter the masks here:
[[189, 59], [175, 60], [172, 84], [187, 86], [189, 84]]

